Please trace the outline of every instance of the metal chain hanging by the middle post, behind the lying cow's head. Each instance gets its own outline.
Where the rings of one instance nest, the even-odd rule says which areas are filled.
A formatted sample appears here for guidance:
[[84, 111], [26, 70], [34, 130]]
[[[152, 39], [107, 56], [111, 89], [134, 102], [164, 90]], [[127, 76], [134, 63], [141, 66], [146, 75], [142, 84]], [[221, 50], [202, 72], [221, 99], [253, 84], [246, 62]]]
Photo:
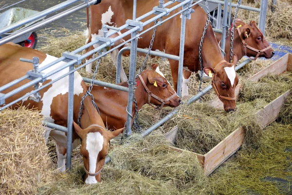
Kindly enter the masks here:
[[[157, 20], [154, 21], [154, 25], [156, 25], [158, 23]], [[138, 74], [136, 75], [135, 78], [138, 78], [139, 75], [141, 75], [142, 71], [144, 70], [145, 66], [146, 66], [146, 62], [149, 58], [149, 54], [150, 54], [150, 51], [152, 50], [152, 47], [153, 47], [153, 42], [154, 42], [154, 38], [155, 38], [155, 33], [156, 33], [156, 29], [157, 29], [157, 26], [154, 27], [153, 29], [153, 35], [152, 35], [152, 39], [150, 40], [150, 44], [149, 44], [149, 47], [148, 47], [148, 52], [146, 54], [146, 57], [144, 59], [144, 62], [141, 66], [141, 68], [139, 69], [138, 71]], [[129, 82], [128, 82], [129, 83]], [[138, 103], [137, 103], [137, 100], [136, 100], [136, 97], [135, 97], [135, 91], [136, 91], [136, 82], [133, 82], [133, 102], [134, 102], [134, 105], [135, 105], [135, 116], [133, 118], [133, 127], [138, 131], [138, 132], [141, 132], [142, 130], [142, 127], [140, 126], [139, 124], [139, 110], [138, 110]], [[125, 124], [126, 126], [126, 124]]]

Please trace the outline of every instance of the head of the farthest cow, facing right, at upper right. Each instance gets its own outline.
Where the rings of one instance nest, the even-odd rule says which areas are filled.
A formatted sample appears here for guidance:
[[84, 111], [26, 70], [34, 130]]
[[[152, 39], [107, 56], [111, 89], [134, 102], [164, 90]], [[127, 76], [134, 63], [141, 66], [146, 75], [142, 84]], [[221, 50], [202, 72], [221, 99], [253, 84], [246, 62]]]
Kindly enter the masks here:
[[[255, 21], [251, 21], [249, 24], [244, 23], [242, 20], [237, 20], [236, 21], [236, 26], [239, 26], [239, 31], [242, 39], [244, 40], [245, 43], [243, 43], [243, 49], [246, 49], [246, 56], [248, 57], [264, 57], [267, 59], [270, 59], [274, 56], [274, 50], [270, 47], [270, 44], [268, 41], [265, 39], [263, 36], [263, 33], [261, 30], [256, 26]], [[236, 29], [235, 29], [236, 31]], [[254, 48], [253, 49], [250, 49]], [[265, 50], [266, 48], [269, 48]], [[265, 50], [263, 52], [258, 52], [259, 50]], [[259, 54], [258, 54], [259, 53]]]

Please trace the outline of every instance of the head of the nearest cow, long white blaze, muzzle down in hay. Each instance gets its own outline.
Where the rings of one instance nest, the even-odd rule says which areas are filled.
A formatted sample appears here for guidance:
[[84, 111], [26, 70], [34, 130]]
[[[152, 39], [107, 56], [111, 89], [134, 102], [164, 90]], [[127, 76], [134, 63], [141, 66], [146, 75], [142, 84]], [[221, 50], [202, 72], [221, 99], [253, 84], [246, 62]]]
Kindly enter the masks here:
[[86, 129], [81, 129], [73, 122], [73, 126], [75, 132], [82, 139], [80, 152], [83, 156], [84, 170], [86, 172], [85, 183], [94, 184], [100, 182], [100, 172], [108, 155], [109, 141], [118, 136], [124, 128], [109, 132], [99, 125], [91, 125]]

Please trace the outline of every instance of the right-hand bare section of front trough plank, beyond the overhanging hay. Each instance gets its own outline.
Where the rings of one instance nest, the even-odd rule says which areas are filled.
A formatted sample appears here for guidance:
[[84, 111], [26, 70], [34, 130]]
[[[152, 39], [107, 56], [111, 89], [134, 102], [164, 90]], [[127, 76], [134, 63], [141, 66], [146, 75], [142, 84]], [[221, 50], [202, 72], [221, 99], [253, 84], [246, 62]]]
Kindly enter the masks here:
[[271, 124], [278, 117], [280, 109], [289, 95], [290, 90], [274, 99], [271, 103], [256, 113], [258, 124], [262, 129]]

